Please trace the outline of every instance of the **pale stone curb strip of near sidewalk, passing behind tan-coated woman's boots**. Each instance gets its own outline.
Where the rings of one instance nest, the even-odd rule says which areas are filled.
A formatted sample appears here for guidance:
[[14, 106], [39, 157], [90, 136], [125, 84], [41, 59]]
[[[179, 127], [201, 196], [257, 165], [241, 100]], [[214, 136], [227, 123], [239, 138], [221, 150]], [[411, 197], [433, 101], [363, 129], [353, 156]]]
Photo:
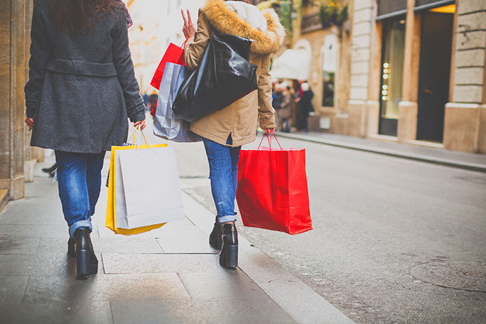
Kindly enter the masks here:
[[[184, 192], [183, 204], [186, 217], [209, 236], [214, 215]], [[241, 234], [238, 241], [238, 268], [297, 323], [355, 323]]]

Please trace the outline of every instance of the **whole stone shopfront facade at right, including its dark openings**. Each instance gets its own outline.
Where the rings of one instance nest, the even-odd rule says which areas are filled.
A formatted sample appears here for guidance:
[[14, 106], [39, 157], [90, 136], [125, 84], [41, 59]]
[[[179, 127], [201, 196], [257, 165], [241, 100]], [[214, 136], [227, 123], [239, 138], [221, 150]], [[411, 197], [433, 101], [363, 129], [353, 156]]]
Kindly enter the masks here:
[[486, 153], [486, 1], [355, 0], [347, 129]]

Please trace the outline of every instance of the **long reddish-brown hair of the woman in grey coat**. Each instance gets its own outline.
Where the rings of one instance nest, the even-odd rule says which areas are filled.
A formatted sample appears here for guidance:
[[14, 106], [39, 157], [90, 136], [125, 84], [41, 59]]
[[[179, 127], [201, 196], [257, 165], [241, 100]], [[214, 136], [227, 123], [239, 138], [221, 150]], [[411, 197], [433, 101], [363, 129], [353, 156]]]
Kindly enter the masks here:
[[119, 0], [49, 0], [53, 26], [63, 33], [82, 34], [92, 29], [92, 17], [102, 17], [115, 8], [123, 8]]

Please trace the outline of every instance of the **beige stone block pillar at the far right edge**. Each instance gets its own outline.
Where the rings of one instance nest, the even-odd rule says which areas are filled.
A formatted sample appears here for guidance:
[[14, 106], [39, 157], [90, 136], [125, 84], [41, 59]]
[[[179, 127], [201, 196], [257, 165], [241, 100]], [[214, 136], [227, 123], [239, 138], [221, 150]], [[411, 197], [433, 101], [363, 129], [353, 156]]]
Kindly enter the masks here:
[[450, 102], [444, 146], [486, 153], [486, 1], [457, 0]]

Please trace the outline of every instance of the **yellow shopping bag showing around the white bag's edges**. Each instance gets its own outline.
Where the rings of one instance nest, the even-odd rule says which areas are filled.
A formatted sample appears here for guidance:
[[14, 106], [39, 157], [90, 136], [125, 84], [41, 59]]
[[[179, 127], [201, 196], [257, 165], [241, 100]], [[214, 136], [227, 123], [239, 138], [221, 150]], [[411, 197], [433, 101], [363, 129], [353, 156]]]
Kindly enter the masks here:
[[[138, 127], [137, 127], [138, 128]], [[106, 226], [109, 229], [112, 229], [115, 234], [124, 234], [124, 235], [133, 235], [133, 234], [140, 234], [144, 232], [148, 232], [152, 229], [158, 229], [162, 227], [163, 225], [166, 225], [166, 223], [163, 224], [157, 224], [157, 225], [151, 225], [151, 226], [145, 226], [145, 227], [138, 227], [134, 229], [122, 229], [122, 228], [117, 228], [117, 204], [116, 204], [116, 197], [115, 197], [115, 186], [116, 181], [115, 181], [115, 167], [116, 167], [116, 154], [117, 151], [120, 150], [134, 150], [136, 148], [150, 148], [150, 147], [166, 147], [167, 144], [155, 144], [155, 145], [148, 145], [147, 142], [145, 141], [145, 145], [134, 145], [135, 143], [135, 136], [136, 136], [136, 130], [134, 134], [134, 141], [131, 144], [131, 146], [112, 146], [112, 155], [110, 157], [109, 161], [109, 178], [108, 178], [108, 203], [107, 203], [107, 221], [106, 221]], [[144, 136], [145, 137], [145, 136]]]

